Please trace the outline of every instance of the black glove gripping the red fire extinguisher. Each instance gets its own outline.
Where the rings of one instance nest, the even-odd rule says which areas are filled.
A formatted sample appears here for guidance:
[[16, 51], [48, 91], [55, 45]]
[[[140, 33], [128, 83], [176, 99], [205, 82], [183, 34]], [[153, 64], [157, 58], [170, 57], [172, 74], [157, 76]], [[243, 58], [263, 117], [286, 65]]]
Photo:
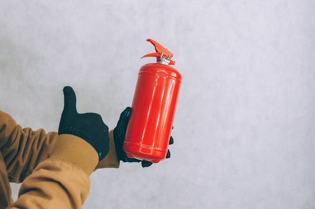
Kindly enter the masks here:
[[[115, 147], [116, 147], [116, 153], [117, 153], [117, 159], [122, 160], [123, 162], [141, 162], [142, 167], [149, 167], [152, 165], [152, 162], [149, 161], [141, 161], [135, 158], [129, 158], [127, 157], [126, 153], [123, 151], [122, 146], [124, 143], [125, 135], [126, 135], [126, 130], [129, 122], [129, 117], [131, 113], [131, 108], [127, 107], [121, 114], [119, 121], [117, 123], [116, 128], [114, 129], [114, 141], [115, 141]], [[171, 136], [170, 143], [173, 144], [174, 140], [173, 137]], [[166, 155], [166, 158], [171, 157], [171, 152], [168, 150], [168, 153]]]

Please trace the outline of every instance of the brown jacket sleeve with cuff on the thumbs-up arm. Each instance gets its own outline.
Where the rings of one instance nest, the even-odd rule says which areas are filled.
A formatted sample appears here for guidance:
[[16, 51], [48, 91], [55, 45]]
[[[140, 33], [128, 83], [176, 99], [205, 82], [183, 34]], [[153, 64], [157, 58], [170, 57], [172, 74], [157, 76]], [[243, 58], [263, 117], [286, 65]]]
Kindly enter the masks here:
[[50, 158], [24, 180], [18, 200], [8, 208], [82, 208], [98, 159], [85, 140], [59, 135]]

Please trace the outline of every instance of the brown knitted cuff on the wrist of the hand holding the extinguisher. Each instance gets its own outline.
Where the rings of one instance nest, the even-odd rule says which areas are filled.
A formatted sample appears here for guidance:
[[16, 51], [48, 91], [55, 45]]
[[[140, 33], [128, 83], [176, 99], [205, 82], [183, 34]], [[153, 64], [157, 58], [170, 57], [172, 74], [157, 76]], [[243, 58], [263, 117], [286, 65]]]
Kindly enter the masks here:
[[106, 157], [99, 161], [95, 170], [99, 168], [119, 168], [119, 161], [117, 160], [115, 142], [114, 142], [114, 134], [113, 130], [111, 130], [109, 135], [109, 152]]

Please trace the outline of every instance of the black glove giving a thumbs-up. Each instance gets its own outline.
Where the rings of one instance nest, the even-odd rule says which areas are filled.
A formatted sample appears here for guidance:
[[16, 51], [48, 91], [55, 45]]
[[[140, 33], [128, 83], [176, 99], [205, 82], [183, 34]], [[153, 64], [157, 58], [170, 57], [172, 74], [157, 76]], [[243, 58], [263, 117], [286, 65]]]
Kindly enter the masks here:
[[58, 134], [71, 134], [90, 143], [102, 160], [109, 151], [108, 127], [102, 117], [96, 113], [78, 114], [76, 98], [70, 86], [63, 88], [64, 108], [61, 115]]

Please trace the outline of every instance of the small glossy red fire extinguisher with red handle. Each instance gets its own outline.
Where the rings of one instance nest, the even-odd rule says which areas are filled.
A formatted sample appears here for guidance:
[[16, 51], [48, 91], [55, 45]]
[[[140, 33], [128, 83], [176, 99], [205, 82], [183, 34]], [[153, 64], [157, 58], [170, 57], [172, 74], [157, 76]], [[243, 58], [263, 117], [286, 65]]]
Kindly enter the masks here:
[[130, 158], [157, 163], [168, 152], [182, 75], [170, 66], [175, 64], [170, 51], [146, 41], [156, 52], [143, 57], [156, 57], [156, 63], [139, 70], [123, 150]]

